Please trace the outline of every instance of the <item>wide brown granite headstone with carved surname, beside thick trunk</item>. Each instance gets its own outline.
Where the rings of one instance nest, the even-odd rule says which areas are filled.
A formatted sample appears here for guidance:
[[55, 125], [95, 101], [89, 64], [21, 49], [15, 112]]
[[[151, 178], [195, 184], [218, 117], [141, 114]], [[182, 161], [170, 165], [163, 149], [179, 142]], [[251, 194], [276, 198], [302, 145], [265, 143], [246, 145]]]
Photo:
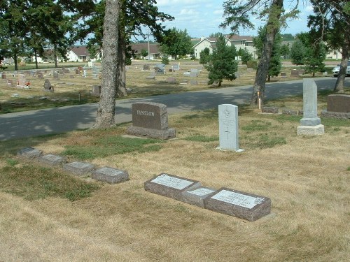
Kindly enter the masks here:
[[162, 103], [133, 103], [132, 126], [127, 128], [132, 136], [145, 138], [175, 138], [175, 129], [169, 129], [167, 105]]

